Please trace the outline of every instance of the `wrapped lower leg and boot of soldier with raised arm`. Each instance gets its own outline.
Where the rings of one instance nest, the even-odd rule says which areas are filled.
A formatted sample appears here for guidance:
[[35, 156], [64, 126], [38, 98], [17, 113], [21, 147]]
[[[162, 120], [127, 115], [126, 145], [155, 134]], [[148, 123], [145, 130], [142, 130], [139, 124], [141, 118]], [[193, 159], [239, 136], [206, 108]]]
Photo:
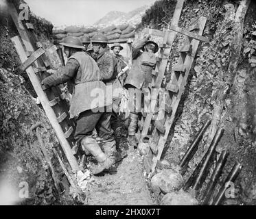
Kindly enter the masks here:
[[139, 115], [135, 113], [130, 113], [130, 124], [128, 127], [128, 144], [129, 146], [133, 146], [135, 149], [137, 148], [137, 138], [135, 133], [137, 131]]

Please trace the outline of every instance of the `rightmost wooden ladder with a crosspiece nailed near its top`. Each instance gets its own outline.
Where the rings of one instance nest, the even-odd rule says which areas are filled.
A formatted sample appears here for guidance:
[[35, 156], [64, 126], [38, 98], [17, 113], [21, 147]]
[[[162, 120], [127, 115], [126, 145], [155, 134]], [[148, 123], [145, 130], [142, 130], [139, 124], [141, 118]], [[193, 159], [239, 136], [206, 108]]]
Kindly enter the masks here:
[[[146, 166], [151, 166], [151, 168], [146, 168], [147, 173], [150, 171], [154, 172], [156, 163], [163, 153], [167, 136], [169, 135], [170, 128], [174, 122], [178, 104], [185, 90], [189, 71], [194, 62], [194, 57], [200, 42], [199, 40], [209, 42], [207, 38], [201, 36], [202, 31], [205, 28], [206, 21], [207, 18], [201, 17], [198, 19], [197, 23], [188, 30], [181, 29], [174, 25], [171, 25], [170, 27], [173, 31], [177, 31], [185, 35], [185, 42], [179, 50], [180, 57], [178, 59], [178, 63], [172, 68], [172, 79], [165, 88], [165, 107], [164, 109], [159, 109], [158, 112], [158, 114], [162, 114], [164, 116], [161, 120], [152, 121], [152, 114], [147, 114], [145, 120], [146, 123], [144, 123], [143, 131], [141, 132], [139, 144], [143, 142], [143, 138], [148, 137], [151, 149], [144, 159], [144, 162], [147, 163]], [[192, 33], [191, 31], [193, 30], [196, 30], [197, 33]], [[150, 125], [152, 125], [154, 129], [152, 134], [148, 136]]]

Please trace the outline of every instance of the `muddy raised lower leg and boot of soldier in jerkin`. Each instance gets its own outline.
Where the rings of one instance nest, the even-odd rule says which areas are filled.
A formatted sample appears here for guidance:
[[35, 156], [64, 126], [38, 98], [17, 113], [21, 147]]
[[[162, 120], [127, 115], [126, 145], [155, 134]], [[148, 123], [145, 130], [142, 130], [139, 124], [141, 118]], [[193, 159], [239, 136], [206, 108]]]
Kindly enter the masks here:
[[108, 170], [113, 164], [112, 159], [108, 158], [106, 154], [100, 149], [100, 145], [91, 136], [86, 136], [81, 141], [82, 147], [89, 151], [91, 155], [97, 159], [99, 166], [93, 167], [93, 175], [97, 175], [104, 170]]

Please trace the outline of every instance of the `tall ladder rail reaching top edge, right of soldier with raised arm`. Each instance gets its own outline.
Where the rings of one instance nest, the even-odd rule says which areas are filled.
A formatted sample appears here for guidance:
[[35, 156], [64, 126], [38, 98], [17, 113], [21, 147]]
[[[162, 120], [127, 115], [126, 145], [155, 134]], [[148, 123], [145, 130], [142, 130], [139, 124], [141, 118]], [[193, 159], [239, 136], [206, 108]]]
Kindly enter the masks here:
[[[178, 20], [181, 16], [181, 11], [183, 9], [183, 3], [185, 0], [178, 0], [176, 3], [176, 8], [174, 10], [174, 15], [172, 18], [172, 25], [178, 25]], [[159, 33], [159, 31], [158, 31]], [[152, 34], [152, 33], [151, 33]], [[152, 86], [154, 86], [154, 88], [161, 88], [161, 83], [163, 81], [163, 77], [165, 74], [165, 70], [166, 70], [166, 66], [167, 66], [167, 58], [170, 55], [171, 49], [172, 49], [172, 44], [174, 42], [174, 39], [176, 37], [176, 32], [175, 31], [165, 31], [164, 35], [163, 35], [163, 44], [167, 44], [168, 47], [165, 49], [161, 49], [161, 54], [163, 55], [163, 57], [165, 57], [162, 62], [159, 64], [156, 64], [156, 69], [158, 70], [158, 75], [156, 77], [156, 80], [154, 81], [154, 78], [152, 79]], [[159, 91], [157, 92], [158, 96]], [[153, 106], [153, 108], [156, 108], [156, 104]], [[152, 120], [153, 115], [152, 114], [147, 114], [146, 119], [145, 119], [145, 123], [143, 126], [143, 130], [141, 131], [141, 138], [139, 140], [139, 145], [138, 147], [142, 144], [142, 138], [144, 138], [146, 135], [148, 135], [148, 129], [150, 127], [151, 124], [151, 120]]]

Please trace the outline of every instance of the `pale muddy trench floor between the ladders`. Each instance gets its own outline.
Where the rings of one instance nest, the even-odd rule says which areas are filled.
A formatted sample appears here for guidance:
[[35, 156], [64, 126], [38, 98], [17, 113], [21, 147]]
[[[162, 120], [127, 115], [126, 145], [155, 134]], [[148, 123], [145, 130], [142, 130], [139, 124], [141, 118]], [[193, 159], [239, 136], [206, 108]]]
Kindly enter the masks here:
[[143, 176], [142, 157], [137, 150], [128, 146], [124, 123], [119, 120], [112, 127], [117, 151], [126, 151], [128, 155], [110, 171], [93, 176], [93, 181], [88, 185], [86, 205], [154, 205]]

